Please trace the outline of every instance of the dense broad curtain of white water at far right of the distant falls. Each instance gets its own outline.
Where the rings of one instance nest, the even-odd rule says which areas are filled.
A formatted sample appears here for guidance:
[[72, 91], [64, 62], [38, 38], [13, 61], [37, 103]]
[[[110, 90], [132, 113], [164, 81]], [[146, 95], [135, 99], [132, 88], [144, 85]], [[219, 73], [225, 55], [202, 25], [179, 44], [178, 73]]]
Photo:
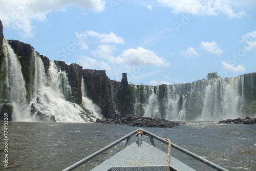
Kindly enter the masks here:
[[243, 104], [243, 82], [241, 76], [210, 80], [208, 86], [205, 87], [200, 119], [221, 120], [239, 117], [240, 106]]

